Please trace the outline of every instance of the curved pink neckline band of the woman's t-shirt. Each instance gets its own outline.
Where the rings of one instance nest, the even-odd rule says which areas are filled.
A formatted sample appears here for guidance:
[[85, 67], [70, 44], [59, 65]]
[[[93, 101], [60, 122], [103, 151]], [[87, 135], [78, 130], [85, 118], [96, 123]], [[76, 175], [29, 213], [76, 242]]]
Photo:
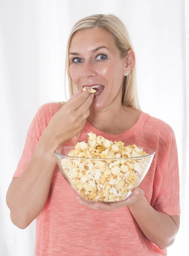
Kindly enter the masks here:
[[138, 127], [141, 125], [142, 121], [144, 120], [145, 117], [145, 113], [143, 111], [141, 111], [140, 116], [138, 117], [137, 121], [135, 122], [135, 124], [133, 125], [133, 127], [131, 127], [129, 130], [121, 133], [121, 134], [107, 134], [103, 131], [98, 130], [97, 128], [95, 128], [87, 119], [86, 119], [86, 123], [85, 125], [91, 130], [93, 131], [95, 134], [100, 134], [103, 137], [121, 137], [124, 135], [129, 135], [131, 134], [133, 131], [135, 131], [136, 129], [138, 129]]

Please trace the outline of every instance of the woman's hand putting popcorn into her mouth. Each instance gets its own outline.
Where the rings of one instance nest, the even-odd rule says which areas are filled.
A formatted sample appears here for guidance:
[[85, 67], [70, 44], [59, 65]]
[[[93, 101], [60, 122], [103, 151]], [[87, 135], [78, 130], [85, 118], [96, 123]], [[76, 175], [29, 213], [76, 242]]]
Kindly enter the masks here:
[[79, 90], [54, 114], [45, 134], [59, 144], [79, 134], [89, 116], [93, 96], [89, 90]]

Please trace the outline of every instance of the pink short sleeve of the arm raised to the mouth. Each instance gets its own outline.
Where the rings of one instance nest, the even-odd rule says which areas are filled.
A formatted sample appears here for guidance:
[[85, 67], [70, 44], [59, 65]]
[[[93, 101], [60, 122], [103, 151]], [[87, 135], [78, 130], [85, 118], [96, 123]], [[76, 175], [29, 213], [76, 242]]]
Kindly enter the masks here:
[[52, 103], [45, 103], [38, 109], [29, 126], [25, 140], [25, 146], [23, 149], [23, 154], [20, 158], [20, 161], [18, 163], [16, 171], [14, 172], [13, 177], [19, 177], [20, 174], [28, 166], [31, 157], [33, 156], [34, 151], [39, 142], [39, 138], [41, 137], [48, 123], [50, 122], [53, 114], [58, 110], [59, 105], [52, 105]]

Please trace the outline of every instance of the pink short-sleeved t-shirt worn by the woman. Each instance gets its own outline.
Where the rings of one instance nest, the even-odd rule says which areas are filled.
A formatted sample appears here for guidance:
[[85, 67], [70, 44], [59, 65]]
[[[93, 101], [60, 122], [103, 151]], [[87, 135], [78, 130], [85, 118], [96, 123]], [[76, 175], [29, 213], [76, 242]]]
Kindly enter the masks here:
[[[57, 103], [46, 103], [39, 108], [13, 177], [24, 171], [39, 137], [59, 109]], [[151, 167], [139, 187], [155, 210], [168, 215], [181, 213], [177, 145], [175, 134], [166, 122], [142, 111], [135, 125], [122, 134], [106, 134], [86, 121], [79, 142], [87, 141], [87, 132], [112, 141], [127, 139], [128, 145], [154, 149]], [[67, 140], [65, 145], [72, 145], [72, 141]], [[144, 236], [127, 206], [106, 212], [78, 204], [76, 194], [56, 165], [45, 207], [36, 218], [35, 256], [152, 255], [167, 253]]]

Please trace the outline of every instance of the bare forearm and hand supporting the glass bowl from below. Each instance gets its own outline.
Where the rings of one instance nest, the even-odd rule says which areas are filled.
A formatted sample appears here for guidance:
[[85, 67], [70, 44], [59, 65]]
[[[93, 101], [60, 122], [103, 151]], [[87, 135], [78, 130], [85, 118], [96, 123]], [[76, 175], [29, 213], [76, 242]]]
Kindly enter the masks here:
[[[137, 193], [138, 190], [139, 194]], [[179, 229], [180, 215], [169, 216], [164, 212], [156, 211], [144, 197], [144, 191], [139, 188], [135, 189], [133, 195], [126, 201], [116, 204], [88, 203], [79, 198], [78, 202], [91, 209], [104, 211], [128, 206], [144, 236], [158, 245], [160, 249], [165, 249], [173, 244]]]

